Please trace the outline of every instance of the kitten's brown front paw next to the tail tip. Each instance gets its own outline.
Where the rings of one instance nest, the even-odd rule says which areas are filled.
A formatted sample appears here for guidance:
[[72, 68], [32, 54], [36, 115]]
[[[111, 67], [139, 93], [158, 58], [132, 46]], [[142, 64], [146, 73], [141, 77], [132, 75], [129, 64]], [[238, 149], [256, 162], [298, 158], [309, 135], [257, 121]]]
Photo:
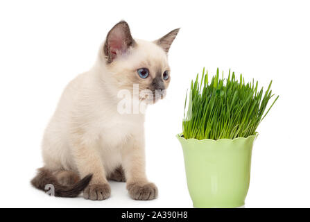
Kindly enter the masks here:
[[110, 195], [111, 188], [107, 183], [103, 185], [89, 185], [83, 191], [84, 198], [89, 200], [105, 200]]

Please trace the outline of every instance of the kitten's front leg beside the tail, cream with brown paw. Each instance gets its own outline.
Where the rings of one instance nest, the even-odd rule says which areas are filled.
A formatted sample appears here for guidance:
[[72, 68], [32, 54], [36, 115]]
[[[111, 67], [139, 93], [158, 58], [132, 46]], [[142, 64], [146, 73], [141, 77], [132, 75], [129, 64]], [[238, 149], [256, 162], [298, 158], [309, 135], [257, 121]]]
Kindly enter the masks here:
[[85, 143], [76, 139], [72, 147], [72, 154], [80, 177], [83, 178], [89, 173], [93, 175], [88, 187], [84, 189], [84, 198], [90, 200], [104, 200], [109, 198], [111, 189], [105, 176], [101, 157], [96, 150], [96, 144]]

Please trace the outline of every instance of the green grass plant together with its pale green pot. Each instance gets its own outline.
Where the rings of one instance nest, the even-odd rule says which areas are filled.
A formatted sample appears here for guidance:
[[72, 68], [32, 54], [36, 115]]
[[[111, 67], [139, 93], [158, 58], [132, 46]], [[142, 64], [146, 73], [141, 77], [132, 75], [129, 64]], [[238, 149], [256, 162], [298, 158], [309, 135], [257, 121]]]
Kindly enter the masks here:
[[187, 187], [194, 207], [241, 207], [250, 183], [252, 146], [257, 127], [277, 101], [258, 82], [245, 83], [234, 72], [224, 79], [191, 81], [185, 99], [183, 133], [177, 135], [184, 153]]

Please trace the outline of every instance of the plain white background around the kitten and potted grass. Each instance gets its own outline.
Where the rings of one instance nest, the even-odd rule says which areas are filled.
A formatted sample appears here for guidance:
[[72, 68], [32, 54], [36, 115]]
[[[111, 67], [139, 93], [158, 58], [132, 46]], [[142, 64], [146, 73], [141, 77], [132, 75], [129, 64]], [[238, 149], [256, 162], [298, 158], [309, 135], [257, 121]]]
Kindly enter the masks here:
[[[1, 1], [0, 207], [192, 207], [182, 148], [184, 95], [205, 66], [259, 80], [279, 100], [259, 126], [246, 207], [310, 207], [309, 1]], [[157, 200], [131, 200], [111, 182], [103, 201], [51, 198], [31, 187], [40, 142], [62, 89], [87, 71], [110, 28], [155, 40], [181, 27], [171, 85], [146, 115], [146, 156]]]

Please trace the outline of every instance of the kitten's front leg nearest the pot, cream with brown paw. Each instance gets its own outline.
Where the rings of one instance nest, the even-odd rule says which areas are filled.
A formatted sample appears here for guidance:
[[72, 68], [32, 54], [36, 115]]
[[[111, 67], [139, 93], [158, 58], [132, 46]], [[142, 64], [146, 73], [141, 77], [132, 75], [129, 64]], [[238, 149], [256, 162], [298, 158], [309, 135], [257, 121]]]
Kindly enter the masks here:
[[148, 182], [146, 178], [144, 138], [132, 138], [126, 146], [122, 151], [122, 166], [126, 174], [130, 197], [135, 200], [153, 200], [157, 198], [157, 187]]

